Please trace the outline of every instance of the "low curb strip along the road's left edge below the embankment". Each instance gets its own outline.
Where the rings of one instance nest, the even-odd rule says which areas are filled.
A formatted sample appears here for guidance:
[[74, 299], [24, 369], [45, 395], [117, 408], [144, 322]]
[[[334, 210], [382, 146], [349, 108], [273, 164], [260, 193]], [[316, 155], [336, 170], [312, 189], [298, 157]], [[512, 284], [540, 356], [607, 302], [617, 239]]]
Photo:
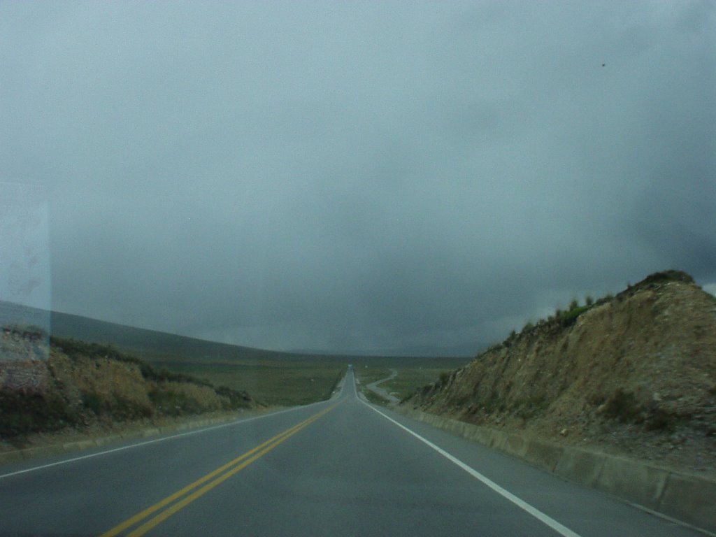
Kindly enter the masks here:
[[223, 425], [224, 423], [241, 420], [241, 418], [253, 417], [264, 413], [266, 412], [243, 412], [236, 415], [201, 418], [183, 423], [145, 427], [143, 429], [132, 429], [125, 432], [115, 432], [110, 435], [88, 437], [83, 438], [82, 440], [73, 440], [72, 442], [59, 442], [57, 444], [44, 445], [37, 448], [5, 451], [0, 453], [0, 464], [17, 463], [21, 460], [46, 457], [48, 455], [74, 453], [75, 451], [87, 450], [90, 448], [102, 448], [115, 442], [121, 442], [122, 440], [138, 440], [140, 438], [169, 435], [173, 432], [185, 432], [198, 429], [200, 427], [209, 427], [211, 425]]

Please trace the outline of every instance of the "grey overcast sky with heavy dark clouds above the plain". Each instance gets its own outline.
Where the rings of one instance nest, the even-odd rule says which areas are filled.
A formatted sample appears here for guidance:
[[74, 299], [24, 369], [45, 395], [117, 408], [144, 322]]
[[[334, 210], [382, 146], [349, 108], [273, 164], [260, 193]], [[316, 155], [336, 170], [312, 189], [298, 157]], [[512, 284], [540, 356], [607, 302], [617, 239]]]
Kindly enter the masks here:
[[470, 355], [716, 282], [716, 4], [3, 1], [0, 182], [0, 299]]

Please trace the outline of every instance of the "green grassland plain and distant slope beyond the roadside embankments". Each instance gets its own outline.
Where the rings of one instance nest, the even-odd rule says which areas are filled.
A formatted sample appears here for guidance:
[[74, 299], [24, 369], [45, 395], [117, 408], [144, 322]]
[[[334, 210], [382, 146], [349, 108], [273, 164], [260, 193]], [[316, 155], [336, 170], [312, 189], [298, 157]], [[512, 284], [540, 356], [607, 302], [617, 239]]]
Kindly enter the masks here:
[[[384, 387], [406, 397], [437, 379], [463, 358], [357, 357], [275, 352], [156, 332], [53, 311], [52, 335], [110, 345], [148, 362], [155, 369], [189, 374], [217, 386], [245, 390], [265, 405], [304, 405], [329, 397], [347, 364], [359, 378], [374, 382], [398, 371]], [[367, 375], [369, 377], [367, 377]], [[369, 380], [368, 380], [369, 378]]]

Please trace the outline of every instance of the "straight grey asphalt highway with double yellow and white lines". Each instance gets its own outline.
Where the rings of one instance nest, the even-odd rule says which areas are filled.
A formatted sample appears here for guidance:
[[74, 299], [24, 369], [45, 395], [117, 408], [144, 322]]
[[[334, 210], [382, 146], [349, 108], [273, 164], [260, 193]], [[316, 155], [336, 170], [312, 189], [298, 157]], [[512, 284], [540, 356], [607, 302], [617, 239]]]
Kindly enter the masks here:
[[0, 469], [0, 535], [701, 535], [359, 400]]

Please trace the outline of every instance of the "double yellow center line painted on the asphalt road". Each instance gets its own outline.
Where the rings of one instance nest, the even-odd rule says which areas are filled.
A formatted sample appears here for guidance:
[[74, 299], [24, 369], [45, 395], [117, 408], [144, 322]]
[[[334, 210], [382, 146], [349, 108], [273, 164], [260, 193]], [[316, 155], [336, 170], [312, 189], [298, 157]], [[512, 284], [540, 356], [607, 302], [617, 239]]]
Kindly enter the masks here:
[[234, 460], [229, 461], [225, 465], [216, 468], [216, 470], [213, 470], [213, 472], [206, 474], [203, 478], [195, 480], [193, 483], [190, 483], [184, 488], [177, 490], [175, 493], [167, 496], [160, 502], [155, 503], [150, 507], [147, 507], [141, 513], [137, 513], [135, 516], [127, 518], [126, 521], [118, 524], [110, 531], [102, 533], [100, 537], [112, 537], [119, 535], [127, 528], [136, 526], [140, 522], [154, 515], [154, 513], [160, 511], [158, 514], [154, 515], [152, 518], [149, 518], [147, 521], [142, 523], [141, 526], [135, 528], [133, 531], [128, 533], [127, 537], [140, 537], [144, 535], [145, 533], [147, 533], [147, 531], [150, 531], [150, 529], [157, 526], [158, 523], [165, 521], [174, 513], [180, 511], [188, 504], [192, 503], [195, 499], [199, 498], [205, 493], [208, 493], [208, 491], [216, 487], [216, 485], [219, 485], [226, 481], [228, 478], [231, 478], [232, 475], [240, 472], [241, 470], [243, 470], [243, 468], [246, 468], [248, 465], [253, 463], [253, 461], [257, 460], [258, 458], [261, 458], [263, 455], [266, 455], [266, 453], [269, 453], [269, 451], [276, 448], [276, 446], [281, 444], [281, 442], [285, 442], [291, 436], [295, 435], [296, 432], [299, 432], [304, 427], [311, 425], [311, 423], [318, 420], [319, 417], [330, 412], [335, 407], [336, 405], [333, 405], [332, 407], [328, 407], [324, 410], [321, 410], [321, 412], [312, 415], [307, 420], [302, 421], [298, 425], [294, 425], [294, 427], [291, 427], [290, 429], [279, 433], [273, 438], [266, 440], [266, 442], [257, 445], [256, 448], [248, 450], [240, 457], [237, 457]]

